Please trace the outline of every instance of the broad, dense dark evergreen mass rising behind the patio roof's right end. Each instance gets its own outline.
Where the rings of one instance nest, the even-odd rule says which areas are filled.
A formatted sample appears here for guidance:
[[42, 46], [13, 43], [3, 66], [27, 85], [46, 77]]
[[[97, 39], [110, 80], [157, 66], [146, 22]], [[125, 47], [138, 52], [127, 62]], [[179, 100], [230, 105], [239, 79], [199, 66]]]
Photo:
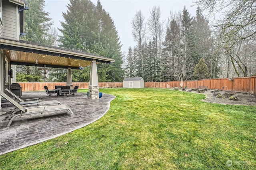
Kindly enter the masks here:
[[67, 12], [62, 13], [63, 29], [59, 29], [60, 46], [114, 59], [113, 64], [97, 64], [99, 81], [122, 81], [123, 56], [118, 32], [100, 1], [95, 6], [90, 0], [70, 0], [67, 8]]

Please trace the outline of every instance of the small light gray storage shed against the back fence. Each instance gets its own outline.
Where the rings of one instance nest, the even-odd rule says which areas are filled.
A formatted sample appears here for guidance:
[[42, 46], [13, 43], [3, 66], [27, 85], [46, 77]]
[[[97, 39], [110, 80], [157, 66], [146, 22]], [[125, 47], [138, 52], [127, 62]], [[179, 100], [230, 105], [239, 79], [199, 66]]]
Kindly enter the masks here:
[[123, 88], [144, 88], [144, 79], [142, 77], [124, 78]]

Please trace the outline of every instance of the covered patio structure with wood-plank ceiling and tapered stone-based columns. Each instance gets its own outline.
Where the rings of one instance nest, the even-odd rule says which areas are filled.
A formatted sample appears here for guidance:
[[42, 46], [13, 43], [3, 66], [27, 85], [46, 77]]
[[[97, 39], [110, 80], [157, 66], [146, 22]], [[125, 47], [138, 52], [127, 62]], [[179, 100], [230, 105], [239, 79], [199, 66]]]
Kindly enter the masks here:
[[[4, 56], [8, 59], [5, 59], [6, 66], [1, 66], [2, 70], [0, 74], [0, 90], [2, 92], [4, 92], [4, 88], [7, 88], [7, 86], [9, 86], [8, 89], [10, 89], [10, 82], [16, 82], [15, 68], [9, 69], [8, 64], [37, 66], [41, 67], [41, 70], [48, 68], [66, 68], [68, 69], [67, 85], [71, 87], [71, 69], [83, 70], [85, 66], [91, 66], [88, 90], [90, 92], [89, 98], [98, 99], [99, 85], [96, 63], [114, 63], [113, 59], [102, 57], [96, 54], [23, 40], [15, 41], [11, 39], [0, 38], [0, 47], [3, 53], [1, 53], [2, 55], [0, 55], [0, 59], [2, 57], [4, 58]], [[5, 79], [3, 74], [4, 71]], [[11, 80], [11, 78], [13, 78], [13, 80]]]

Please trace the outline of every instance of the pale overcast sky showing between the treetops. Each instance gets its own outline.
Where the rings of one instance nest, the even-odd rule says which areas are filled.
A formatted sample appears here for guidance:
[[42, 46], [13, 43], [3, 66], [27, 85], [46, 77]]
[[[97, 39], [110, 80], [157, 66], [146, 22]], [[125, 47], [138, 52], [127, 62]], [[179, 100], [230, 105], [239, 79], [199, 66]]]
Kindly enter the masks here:
[[[91, 0], [96, 4], [96, 0]], [[194, 0], [195, 2], [195, 0]], [[50, 18], [54, 21], [54, 27], [62, 28], [60, 21], [64, 21], [62, 12], [66, 12], [66, 5], [69, 0], [45, 0], [45, 11], [50, 13]], [[191, 16], [196, 14], [196, 6], [192, 6], [193, 0], [101, 0], [102, 7], [109, 12], [112, 17], [116, 30], [120, 37], [122, 52], [127, 52], [129, 46], [133, 48], [135, 42], [132, 37], [131, 21], [137, 11], [141, 10], [147, 20], [150, 10], [154, 6], [160, 7], [162, 20], [168, 20], [170, 11], [178, 12], [184, 6], [188, 9]]]

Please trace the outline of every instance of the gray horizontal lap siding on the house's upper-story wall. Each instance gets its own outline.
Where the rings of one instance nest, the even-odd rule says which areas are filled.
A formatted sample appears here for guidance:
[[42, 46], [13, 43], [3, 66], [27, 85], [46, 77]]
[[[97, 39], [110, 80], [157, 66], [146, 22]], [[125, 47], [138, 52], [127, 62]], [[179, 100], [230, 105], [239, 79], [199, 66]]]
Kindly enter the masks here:
[[3, 38], [16, 40], [17, 35], [17, 5], [9, 1], [2, 1]]

